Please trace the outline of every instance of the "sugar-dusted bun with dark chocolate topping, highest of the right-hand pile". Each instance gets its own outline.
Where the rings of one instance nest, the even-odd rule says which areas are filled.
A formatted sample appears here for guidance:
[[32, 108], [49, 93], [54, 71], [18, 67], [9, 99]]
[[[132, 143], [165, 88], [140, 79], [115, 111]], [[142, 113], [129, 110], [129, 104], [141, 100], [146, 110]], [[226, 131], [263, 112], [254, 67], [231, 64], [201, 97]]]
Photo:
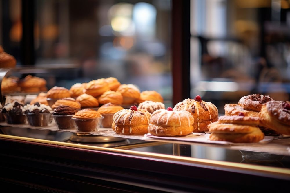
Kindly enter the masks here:
[[261, 111], [262, 105], [268, 101], [271, 101], [267, 95], [252, 94], [242, 97], [238, 104], [244, 109], [251, 109], [253, 111]]

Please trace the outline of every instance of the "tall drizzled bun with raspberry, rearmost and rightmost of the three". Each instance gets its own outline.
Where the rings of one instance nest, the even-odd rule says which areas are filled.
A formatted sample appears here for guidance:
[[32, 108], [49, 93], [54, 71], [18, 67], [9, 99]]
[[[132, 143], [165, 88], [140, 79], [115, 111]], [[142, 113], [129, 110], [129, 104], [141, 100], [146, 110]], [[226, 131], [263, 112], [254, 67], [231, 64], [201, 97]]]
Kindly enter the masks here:
[[184, 110], [193, 115], [193, 132], [208, 131], [207, 125], [218, 120], [218, 108], [211, 102], [201, 100], [199, 95], [177, 103], [173, 110]]

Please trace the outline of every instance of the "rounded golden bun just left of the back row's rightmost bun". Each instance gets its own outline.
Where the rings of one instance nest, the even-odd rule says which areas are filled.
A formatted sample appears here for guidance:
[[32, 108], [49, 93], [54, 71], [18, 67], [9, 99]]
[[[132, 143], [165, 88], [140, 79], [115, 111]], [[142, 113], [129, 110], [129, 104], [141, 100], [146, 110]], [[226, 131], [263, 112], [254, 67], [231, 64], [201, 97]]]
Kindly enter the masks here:
[[123, 104], [133, 104], [139, 97], [140, 91], [133, 84], [121, 84], [117, 92], [123, 96]]

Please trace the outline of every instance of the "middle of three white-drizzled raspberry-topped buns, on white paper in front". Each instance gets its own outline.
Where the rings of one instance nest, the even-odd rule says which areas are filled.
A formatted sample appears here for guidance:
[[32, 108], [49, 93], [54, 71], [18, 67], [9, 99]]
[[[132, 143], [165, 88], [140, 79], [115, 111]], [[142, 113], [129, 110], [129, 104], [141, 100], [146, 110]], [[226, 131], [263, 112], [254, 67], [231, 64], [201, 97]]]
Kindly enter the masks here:
[[194, 117], [187, 111], [159, 109], [151, 115], [148, 132], [156, 136], [183, 136], [192, 133], [193, 123]]

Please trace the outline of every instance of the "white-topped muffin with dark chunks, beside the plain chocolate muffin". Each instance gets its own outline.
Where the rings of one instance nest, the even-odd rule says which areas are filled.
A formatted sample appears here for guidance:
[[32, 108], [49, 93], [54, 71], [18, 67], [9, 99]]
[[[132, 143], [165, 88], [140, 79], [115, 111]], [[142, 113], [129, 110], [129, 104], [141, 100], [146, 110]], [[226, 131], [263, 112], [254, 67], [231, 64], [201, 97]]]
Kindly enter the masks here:
[[47, 126], [52, 121], [52, 109], [50, 106], [39, 104], [39, 102], [25, 105], [22, 112], [31, 126]]

